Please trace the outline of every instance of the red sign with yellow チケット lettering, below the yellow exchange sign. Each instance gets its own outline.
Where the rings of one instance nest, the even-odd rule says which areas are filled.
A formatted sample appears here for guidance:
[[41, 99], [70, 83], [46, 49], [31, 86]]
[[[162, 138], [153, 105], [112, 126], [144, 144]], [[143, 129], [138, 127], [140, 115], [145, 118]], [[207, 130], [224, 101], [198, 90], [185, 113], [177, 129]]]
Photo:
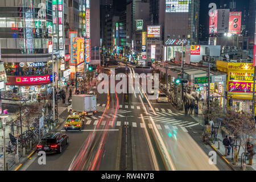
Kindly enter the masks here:
[[253, 93], [253, 83], [230, 81], [229, 92]]

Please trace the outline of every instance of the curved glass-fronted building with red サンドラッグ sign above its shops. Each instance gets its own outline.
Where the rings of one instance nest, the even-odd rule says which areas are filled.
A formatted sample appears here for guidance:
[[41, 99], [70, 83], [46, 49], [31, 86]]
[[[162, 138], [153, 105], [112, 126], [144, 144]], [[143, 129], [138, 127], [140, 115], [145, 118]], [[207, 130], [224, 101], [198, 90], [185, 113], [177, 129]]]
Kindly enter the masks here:
[[[43, 95], [50, 90], [52, 6], [51, 0], [0, 1], [1, 53], [7, 75], [3, 97], [14, 98], [12, 94], [19, 92], [19, 96], [28, 99], [31, 93]], [[54, 49], [59, 50], [57, 41], [53, 40]]]

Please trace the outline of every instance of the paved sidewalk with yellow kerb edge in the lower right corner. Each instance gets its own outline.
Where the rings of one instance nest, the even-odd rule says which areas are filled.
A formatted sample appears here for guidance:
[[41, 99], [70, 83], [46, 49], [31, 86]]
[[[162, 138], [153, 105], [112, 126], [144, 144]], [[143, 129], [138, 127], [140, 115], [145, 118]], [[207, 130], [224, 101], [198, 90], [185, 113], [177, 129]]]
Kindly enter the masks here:
[[[226, 134], [224, 134], [224, 135], [226, 135]], [[217, 152], [218, 155], [220, 155], [222, 157], [222, 159], [225, 160], [225, 162], [231, 168], [233, 168], [236, 171], [242, 171], [242, 168], [241, 168], [241, 154], [243, 152], [245, 152], [243, 150], [243, 147], [242, 146], [240, 147], [238, 161], [236, 162], [236, 165], [234, 165], [234, 159], [232, 159], [232, 149], [230, 150], [230, 155], [225, 156], [225, 147], [224, 147], [224, 144], [222, 144], [222, 140], [224, 139], [224, 137], [225, 136], [222, 136], [222, 134], [219, 133], [218, 137], [217, 137], [217, 141], [214, 144], [211, 143], [211, 147]], [[220, 142], [220, 148], [218, 148], [218, 142]], [[237, 142], [237, 144], [240, 144], [240, 142]], [[255, 140], [254, 140], [254, 146], [255, 146]], [[237, 150], [238, 150], [238, 148], [239, 147], [237, 147]], [[233, 155], [233, 158], [234, 158], [234, 155]], [[255, 156], [253, 158], [253, 165], [252, 166], [249, 165], [249, 160], [246, 160], [246, 170], [247, 171], [256, 171], [256, 158], [255, 158]]]

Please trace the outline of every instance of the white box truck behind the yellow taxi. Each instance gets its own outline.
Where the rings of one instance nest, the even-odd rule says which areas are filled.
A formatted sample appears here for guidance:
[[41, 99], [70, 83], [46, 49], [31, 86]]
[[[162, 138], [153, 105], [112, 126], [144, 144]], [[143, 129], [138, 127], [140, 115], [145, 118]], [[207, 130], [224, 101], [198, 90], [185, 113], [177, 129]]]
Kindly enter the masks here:
[[80, 115], [93, 115], [97, 113], [97, 98], [95, 95], [72, 95], [68, 102], [68, 112]]

